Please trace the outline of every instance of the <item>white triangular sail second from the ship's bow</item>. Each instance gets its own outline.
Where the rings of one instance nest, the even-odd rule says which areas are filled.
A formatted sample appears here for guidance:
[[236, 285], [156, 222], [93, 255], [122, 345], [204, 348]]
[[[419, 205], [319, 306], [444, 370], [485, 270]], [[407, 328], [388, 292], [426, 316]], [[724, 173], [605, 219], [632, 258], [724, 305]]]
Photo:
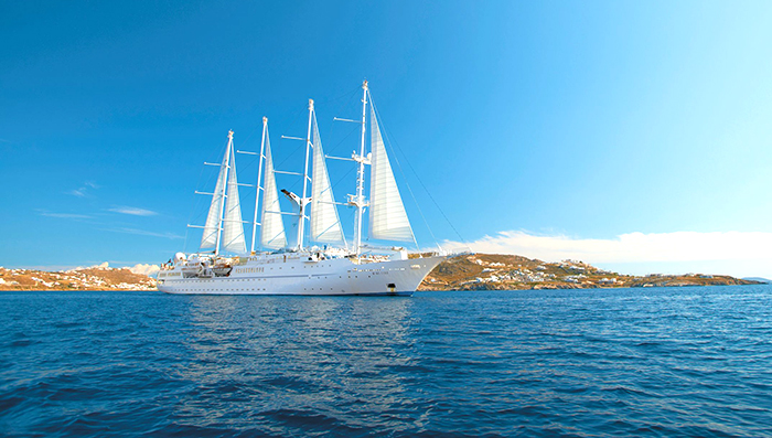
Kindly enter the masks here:
[[311, 186], [311, 241], [321, 243], [343, 242], [343, 229], [333, 204], [330, 175], [324, 162], [322, 139], [319, 137], [317, 117], [313, 118], [313, 180]]

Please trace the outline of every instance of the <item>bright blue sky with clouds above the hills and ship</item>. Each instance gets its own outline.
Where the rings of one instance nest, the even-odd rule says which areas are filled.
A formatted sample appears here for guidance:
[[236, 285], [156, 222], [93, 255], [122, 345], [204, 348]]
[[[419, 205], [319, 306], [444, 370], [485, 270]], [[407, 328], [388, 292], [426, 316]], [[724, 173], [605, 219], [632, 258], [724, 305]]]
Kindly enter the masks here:
[[299, 170], [280, 136], [314, 98], [345, 156], [356, 126], [332, 118], [366, 78], [439, 241], [772, 277], [771, 22], [769, 2], [0, 1], [0, 265], [194, 250], [227, 130], [257, 150], [267, 116]]

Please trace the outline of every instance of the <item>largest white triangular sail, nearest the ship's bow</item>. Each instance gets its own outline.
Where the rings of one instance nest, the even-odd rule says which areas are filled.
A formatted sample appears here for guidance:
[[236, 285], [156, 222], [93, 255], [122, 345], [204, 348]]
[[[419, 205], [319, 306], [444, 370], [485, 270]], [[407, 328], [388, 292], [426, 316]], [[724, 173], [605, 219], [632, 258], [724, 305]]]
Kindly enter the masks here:
[[382, 241], [412, 242], [412, 229], [407, 218], [392, 164], [388, 162], [380, 129], [371, 106], [371, 158], [369, 181], [369, 237]]

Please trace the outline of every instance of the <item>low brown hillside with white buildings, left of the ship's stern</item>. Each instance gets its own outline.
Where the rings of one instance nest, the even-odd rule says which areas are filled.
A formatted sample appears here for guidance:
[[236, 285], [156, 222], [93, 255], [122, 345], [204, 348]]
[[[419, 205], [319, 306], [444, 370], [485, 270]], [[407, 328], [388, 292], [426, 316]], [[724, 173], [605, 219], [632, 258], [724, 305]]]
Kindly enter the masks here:
[[76, 268], [56, 273], [0, 267], [0, 290], [153, 290], [156, 279], [129, 268]]

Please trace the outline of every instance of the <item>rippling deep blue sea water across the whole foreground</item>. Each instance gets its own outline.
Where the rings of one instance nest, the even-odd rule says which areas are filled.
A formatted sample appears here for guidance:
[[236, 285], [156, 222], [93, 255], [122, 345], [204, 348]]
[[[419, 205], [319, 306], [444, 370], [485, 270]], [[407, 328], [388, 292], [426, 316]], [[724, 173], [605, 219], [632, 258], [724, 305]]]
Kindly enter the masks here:
[[3, 436], [772, 436], [772, 286], [0, 292]]

